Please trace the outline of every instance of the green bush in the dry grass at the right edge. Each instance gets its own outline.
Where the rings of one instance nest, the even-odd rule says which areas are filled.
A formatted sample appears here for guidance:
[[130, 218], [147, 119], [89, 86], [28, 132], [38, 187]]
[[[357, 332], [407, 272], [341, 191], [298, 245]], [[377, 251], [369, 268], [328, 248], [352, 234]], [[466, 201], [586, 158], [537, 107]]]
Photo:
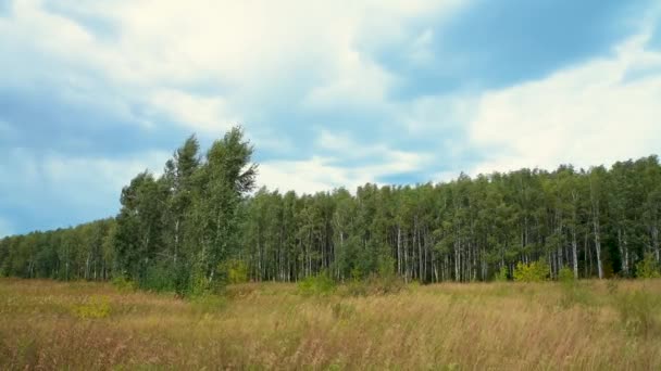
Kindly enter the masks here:
[[632, 335], [653, 336], [661, 333], [661, 297], [643, 290], [625, 292], [616, 297], [615, 308], [624, 329]]

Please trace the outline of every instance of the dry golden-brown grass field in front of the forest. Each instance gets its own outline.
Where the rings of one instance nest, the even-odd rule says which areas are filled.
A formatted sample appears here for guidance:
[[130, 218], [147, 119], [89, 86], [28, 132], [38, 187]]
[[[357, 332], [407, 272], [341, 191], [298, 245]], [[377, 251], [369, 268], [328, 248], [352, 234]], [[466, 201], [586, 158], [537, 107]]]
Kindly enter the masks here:
[[182, 300], [0, 280], [0, 369], [661, 370], [661, 281], [412, 285], [354, 297], [242, 284]]

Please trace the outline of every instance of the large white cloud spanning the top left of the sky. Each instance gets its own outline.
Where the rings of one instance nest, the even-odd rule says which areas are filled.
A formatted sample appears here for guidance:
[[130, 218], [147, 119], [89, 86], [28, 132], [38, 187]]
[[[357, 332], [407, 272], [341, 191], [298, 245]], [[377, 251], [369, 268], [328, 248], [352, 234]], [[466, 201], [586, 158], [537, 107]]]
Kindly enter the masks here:
[[[357, 42], [403, 34], [410, 20], [449, 13], [463, 2], [62, 0], [64, 11], [54, 13], [45, 1], [15, 0], [12, 16], [0, 18], [0, 51], [10, 55], [5, 67], [20, 71], [12, 84], [57, 80], [74, 95], [97, 89], [114, 94], [117, 110], [146, 104], [157, 117], [214, 131], [283, 93], [309, 110], [385, 103], [392, 76]], [[100, 37], [67, 13], [101, 20], [115, 27], [113, 35]], [[429, 37], [422, 35], [419, 49]], [[35, 60], [22, 66], [25, 52]], [[32, 64], [42, 59], [49, 67]], [[222, 92], [178, 89], [196, 84]]]

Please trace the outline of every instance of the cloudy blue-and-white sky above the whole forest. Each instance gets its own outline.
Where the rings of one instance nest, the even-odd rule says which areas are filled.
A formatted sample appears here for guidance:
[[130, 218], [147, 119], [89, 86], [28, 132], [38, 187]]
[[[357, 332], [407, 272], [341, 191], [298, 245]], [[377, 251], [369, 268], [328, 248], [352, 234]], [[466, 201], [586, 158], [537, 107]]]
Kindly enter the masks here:
[[299, 193], [659, 154], [661, 2], [0, 0], [0, 236], [235, 125]]

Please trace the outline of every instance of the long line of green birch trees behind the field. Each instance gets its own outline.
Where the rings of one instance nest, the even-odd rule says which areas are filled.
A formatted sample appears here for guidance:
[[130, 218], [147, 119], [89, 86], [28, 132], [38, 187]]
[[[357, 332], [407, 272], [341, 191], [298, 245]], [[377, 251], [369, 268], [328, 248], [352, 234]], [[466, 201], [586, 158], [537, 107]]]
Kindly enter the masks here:
[[[636, 277], [659, 267], [657, 156], [577, 170], [521, 169], [438, 184], [314, 195], [265, 188], [240, 128], [204, 156], [190, 137], [160, 178], [122, 190], [122, 209], [70, 229], [0, 241], [0, 274], [124, 278], [153, 290], [227, 280], [336, 280], [390, 270], [407, 281], [487, 281], [544, 260], [549, 278]], [[545, 266], [546, 266], [545, 265]]]

